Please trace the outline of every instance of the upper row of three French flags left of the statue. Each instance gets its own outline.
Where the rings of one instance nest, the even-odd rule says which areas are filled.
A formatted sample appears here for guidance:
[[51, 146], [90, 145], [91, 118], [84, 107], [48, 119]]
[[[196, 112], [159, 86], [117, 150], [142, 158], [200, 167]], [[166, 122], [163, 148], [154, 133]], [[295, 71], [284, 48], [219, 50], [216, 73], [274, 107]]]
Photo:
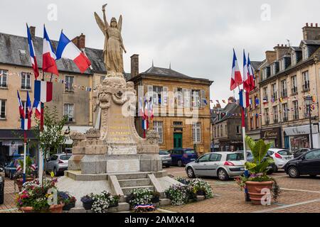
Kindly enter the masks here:
[[[34, 50], [34, 45], [28, 24], [27, 34], [31, 64], [34, 75], [37, 79], [39, 76], [38, 62], [36, 59], [36, 52]], [[56, 65], [56, 60], [59, 60], [61, 58], [73, 60], [81, 73], [85, 72], [85, 70], [87, 70], [87, 68], [91, 65], [91, 62], [87, 58], [87, 56], [85, 56], [85, 54], [81, 50], [79, 50], [79, 48], [73, 42], [71, 42], [71, 40], [63, 33], [63, 31], [61, 31], [60, 33], [57, 50], [54, 50], [49, 35], [46, 31], [46, 26], [43, 26], [43, 72], [50, 72], [58, 76], [59, 73]]]

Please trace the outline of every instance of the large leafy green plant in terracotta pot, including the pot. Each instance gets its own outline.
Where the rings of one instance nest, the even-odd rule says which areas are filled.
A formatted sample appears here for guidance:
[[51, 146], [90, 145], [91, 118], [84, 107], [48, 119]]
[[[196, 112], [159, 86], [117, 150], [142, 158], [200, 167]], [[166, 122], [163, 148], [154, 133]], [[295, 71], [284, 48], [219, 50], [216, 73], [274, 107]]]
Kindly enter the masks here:
[[265, 157], [272, 143], [265, 144], [264, 140], [255, 142], [247, 136], [245, 138], [249, 146], [253, 162], [246, 162], [245, 167], [250, 172], [249, 177], [240, 176], [237, 180], [241, 189], [247, 188], [252, 204], [262, 204], [262, 197], [270, 192], [274, 200], [279, 196], [279, 186], [275, 179], [267, 175], [267, 167], [274, 162], [272, 157]]

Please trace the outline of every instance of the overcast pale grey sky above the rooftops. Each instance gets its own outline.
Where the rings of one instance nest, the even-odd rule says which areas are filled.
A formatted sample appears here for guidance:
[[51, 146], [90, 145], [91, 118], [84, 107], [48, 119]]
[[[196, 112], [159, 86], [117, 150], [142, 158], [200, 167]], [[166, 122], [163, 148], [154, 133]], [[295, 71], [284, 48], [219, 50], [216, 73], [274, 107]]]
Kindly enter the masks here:
[[[250, 52], [250, 60], [261, 61], [266, 50], [287, 44], [287, 39], [299, 45], [306, 22], [320, 24], [319, 0], [1, 0], [0, 32], [26, 36], [28, 23], [42, 36], [46, 23], [50, 39], [58, 40], [63, 28], [69, 38], [84, 33], [87, 47], [102, 49], [104, 36], [93, 12], [102, 16], [105, 3], [108, 21], [123, 16], [126, 72], [136, 53], [140, 72], [151, 67], [152, 60], [156, 67], [169, 67], [171, 62], [173, 70], [213, 80], [213, 100], [233, 95], [229, 89], [233, 48], [242, 69], [243, 48]], [[57, 6], [56, 20], [50, 4]]]

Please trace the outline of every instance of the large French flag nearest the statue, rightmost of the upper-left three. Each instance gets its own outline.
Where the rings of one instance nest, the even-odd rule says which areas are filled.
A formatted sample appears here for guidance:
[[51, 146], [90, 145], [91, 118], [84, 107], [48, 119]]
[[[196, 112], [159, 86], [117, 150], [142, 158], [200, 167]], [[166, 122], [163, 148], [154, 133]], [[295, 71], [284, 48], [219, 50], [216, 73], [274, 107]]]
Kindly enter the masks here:
[[73, 60], [78, 66], [81, 73], [85, 72], [90, 67], [90, 60], [81, 52], [77, 46], [71, 42], [65, 34], [61, 31], [60, 40], [57, 48], [57, 60], [66, 58]]

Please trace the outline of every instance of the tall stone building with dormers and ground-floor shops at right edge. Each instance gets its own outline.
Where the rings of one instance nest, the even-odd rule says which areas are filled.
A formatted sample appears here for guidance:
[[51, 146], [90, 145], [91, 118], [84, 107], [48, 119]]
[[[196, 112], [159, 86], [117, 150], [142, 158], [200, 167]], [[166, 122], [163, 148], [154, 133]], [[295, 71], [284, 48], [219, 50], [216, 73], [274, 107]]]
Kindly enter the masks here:
[[[260, 67], [261, 138], [276, 148], [309, 148], [309, 109], [314, 148], [320, 148], [320, 27], [307, 23], [299, 46], [277, 45]], [[306, 106], [305, 97], [314, 104]]]

